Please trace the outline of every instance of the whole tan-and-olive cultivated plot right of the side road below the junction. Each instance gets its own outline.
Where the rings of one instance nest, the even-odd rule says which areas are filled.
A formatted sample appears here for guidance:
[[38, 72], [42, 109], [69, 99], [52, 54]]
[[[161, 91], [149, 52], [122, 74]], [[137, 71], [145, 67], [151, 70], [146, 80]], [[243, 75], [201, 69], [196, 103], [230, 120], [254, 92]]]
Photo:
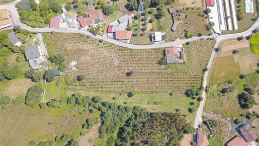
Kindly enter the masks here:
[[227, 81], [241, 74], [252, 74], [257, 70], [259, 56], [251, 52], [248, 40], [224, 40], [220, 47], [222, 49], [215, 58], [210, 84]]

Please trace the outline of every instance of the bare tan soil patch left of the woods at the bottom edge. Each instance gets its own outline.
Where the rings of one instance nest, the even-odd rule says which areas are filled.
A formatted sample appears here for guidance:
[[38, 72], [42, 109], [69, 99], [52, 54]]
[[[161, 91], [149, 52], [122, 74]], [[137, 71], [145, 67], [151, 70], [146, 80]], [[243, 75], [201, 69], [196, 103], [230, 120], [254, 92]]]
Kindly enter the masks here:
[[85, 135], [80, 136], [78, 139], [79, 146], [92, 146], [95, 145], [96, 138], [99, 137], [99, 128], [101, 124], [94, 125], [92, 129]]

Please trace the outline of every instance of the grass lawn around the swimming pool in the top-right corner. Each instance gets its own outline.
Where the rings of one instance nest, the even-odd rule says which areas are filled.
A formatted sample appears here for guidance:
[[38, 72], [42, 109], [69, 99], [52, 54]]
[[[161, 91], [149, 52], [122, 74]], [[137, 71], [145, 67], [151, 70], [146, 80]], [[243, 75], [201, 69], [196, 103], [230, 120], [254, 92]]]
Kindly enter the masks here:
[[[236, 8], [235, 8], [236, 14], [237, 14], [238, 10], [240, 10], [240, 12], [243, 16], [243, 19], [241, 21], [237, 21], [238, 30], [224, 31], [224, 34], [239, 33], [239, 32], [246, 31], [250, 27], [250, 25], [254, 22], [254, 18], [257, 16], [255, 1], [253, 1], [253, 13], [245, 13], [244, 1], [241, 1], [240, 4], [237, 4], [237, 1], [234, 1], [234, 2], [235, 2], [235, 6], [236, 6]], [[240, 6], [240, 8], [237, 8], [237, 6]]]

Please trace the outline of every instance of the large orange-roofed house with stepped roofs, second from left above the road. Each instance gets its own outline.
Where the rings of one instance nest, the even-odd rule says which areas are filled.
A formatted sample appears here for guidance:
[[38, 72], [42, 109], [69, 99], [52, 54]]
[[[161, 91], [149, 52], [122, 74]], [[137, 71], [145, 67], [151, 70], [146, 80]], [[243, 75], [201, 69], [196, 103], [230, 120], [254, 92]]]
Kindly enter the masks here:
[[94, 26], [102, 22], [102, 14], [100, 10], [94, 10], [85, 14], [85, 18], [83, 18], [83, 16], [78, 17], [77, 21], [79, 22], [81, 28], [86, 26]]

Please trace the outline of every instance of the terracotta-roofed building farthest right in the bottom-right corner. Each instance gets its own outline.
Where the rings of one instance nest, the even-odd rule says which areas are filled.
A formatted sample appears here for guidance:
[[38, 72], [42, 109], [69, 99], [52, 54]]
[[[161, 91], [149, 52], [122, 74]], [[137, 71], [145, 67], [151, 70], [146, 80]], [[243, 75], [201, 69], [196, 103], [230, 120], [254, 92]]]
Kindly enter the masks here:
[[241, 133], [241, 136], [244, 138], [247, 142], [252, 142], [257, 138], [257, 135], [252, 130], [252, 127], [249, 124], [242, 124], [239, 128], [239, 132]]

